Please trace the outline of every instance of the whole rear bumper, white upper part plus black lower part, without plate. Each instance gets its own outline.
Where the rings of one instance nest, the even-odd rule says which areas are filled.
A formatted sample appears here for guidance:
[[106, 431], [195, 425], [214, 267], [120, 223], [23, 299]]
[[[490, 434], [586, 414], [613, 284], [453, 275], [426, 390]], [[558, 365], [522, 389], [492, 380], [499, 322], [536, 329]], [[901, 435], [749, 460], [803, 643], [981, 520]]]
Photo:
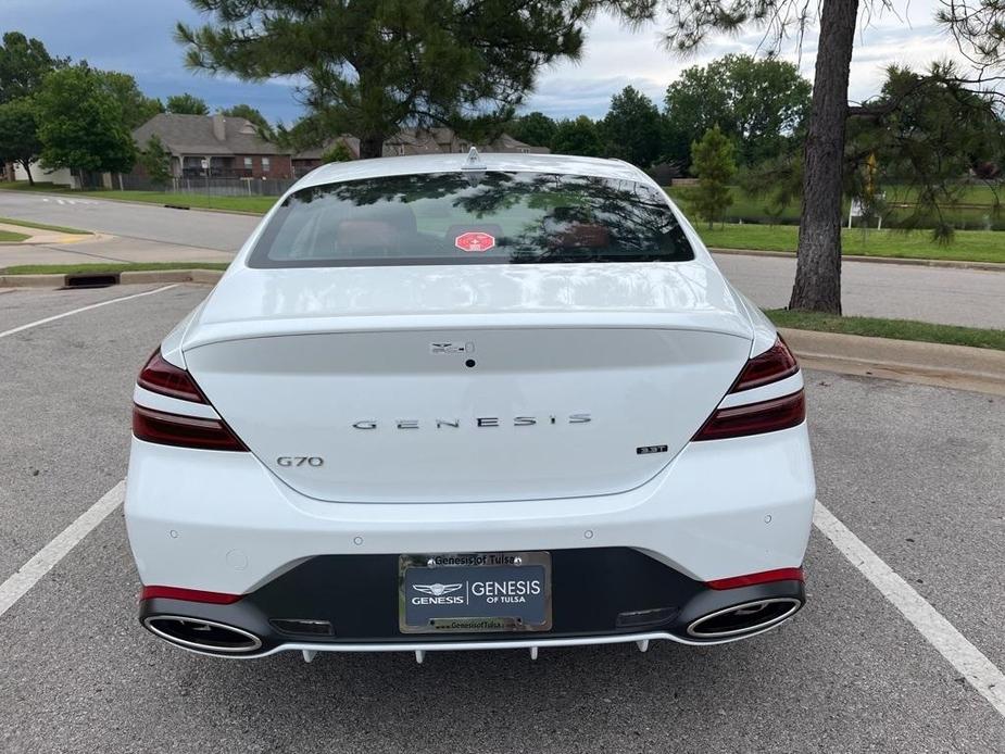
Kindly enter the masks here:
[[[650, 482], [619, 494], [473, 504], [327, 503], [297, 493], [251, 453], [134, 439], [125, 515], [145, 585], [242, 595], [228, 605], [146, 600], [141, 619], [234, 626], [255, 646], [230, 656], [262, 656], [745, 638], [759, 630], [707, 639], [688, 627], [752, 601], [792, 606], [788, 618], [803, 604], [802, 583], [717, 591], [706, 582], [800, 566], [814, 499], [805, 425], [691, 443]], [[398, 631], [399, 554], [514, 551], [552, 553], [551, 630]], [[618, 624], [620, 613], [654, 608], [668, 611], [661, 623]], [[291, 634], [276, 618], [329, 620], [335, 632]]]

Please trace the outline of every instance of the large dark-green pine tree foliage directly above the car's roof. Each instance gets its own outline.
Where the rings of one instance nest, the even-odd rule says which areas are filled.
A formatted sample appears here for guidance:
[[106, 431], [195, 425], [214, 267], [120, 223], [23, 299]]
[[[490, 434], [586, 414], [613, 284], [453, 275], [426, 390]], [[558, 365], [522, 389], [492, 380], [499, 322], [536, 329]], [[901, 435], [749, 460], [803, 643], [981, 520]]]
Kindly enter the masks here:
[[[627, 0], [613, 0], [612, 4]], [[542, 66], [577, 58], [594, 0], [189, 0], [179, 24], [192, 68], [244, 80], [296, 76], [314, 126], [380, 156], [402, 126], [468, 136], [507, 122]]]

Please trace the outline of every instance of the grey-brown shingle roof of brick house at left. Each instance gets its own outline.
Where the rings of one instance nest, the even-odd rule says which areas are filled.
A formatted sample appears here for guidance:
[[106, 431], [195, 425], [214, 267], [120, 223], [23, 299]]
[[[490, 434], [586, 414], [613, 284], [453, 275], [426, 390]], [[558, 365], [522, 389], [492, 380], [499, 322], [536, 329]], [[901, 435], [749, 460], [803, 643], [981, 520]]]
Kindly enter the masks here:
[[[217, 120], [222, 121], [223, 139], [214, 129]], [[133, 139], [143, 147], [153, 135], [176, 155], [289, 154], [289, 150], [259, 137], [254, 124], [242, 117], [158, 113], [133, 131]]]

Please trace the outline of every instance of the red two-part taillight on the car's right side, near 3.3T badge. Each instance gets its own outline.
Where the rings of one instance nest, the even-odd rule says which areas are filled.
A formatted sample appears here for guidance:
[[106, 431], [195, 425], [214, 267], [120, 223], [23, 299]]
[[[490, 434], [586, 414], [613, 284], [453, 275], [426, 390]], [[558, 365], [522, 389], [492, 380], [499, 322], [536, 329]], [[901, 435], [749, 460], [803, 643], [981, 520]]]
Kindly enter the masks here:
[[[775, 345], [746, 362], [728, 394], [761, 388], [797, 372], [795, 356], [779, 337]], [[806, 399], [800, 389], [788, 395], [717, 409], [692, 440], [725, 440], [776, 432], [799, 426], [805, 418]]]

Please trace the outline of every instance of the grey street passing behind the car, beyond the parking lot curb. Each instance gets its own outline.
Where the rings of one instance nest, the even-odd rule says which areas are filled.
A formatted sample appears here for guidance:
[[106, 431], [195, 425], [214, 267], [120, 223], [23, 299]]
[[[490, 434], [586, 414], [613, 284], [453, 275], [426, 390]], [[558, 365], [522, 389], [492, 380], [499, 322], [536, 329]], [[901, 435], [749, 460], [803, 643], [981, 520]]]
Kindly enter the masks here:
[[[111, 244], [61, 247], [64, 254], [43, 263], [97, 261], [85, 254], [129, 261], [148, 256], [158, 261], [174, 256], [194, 261], [200, 256], [199, 249], [205, 250], [205, 261], [219, 261], [226, 259], [221, 252], [236, 251], [259, 222], [257, 217], [247, 215], [17, 191], [0, 191], [0, 217], [48, 222], [121, 237]], [[919, 237], [919, 242], [926, 241]], [[20, 249], [17, 252], [21, 256], [28, 253]], [[758, 305], [776, 309], [788, 304], [795, 276], [794, 259], [718, 254], [716, 262]], [[16, 263], [27, 262], [18, 257]], [[842, 284], [845, 314], [1005, 328], [1005, 273], [847, 262]]]

